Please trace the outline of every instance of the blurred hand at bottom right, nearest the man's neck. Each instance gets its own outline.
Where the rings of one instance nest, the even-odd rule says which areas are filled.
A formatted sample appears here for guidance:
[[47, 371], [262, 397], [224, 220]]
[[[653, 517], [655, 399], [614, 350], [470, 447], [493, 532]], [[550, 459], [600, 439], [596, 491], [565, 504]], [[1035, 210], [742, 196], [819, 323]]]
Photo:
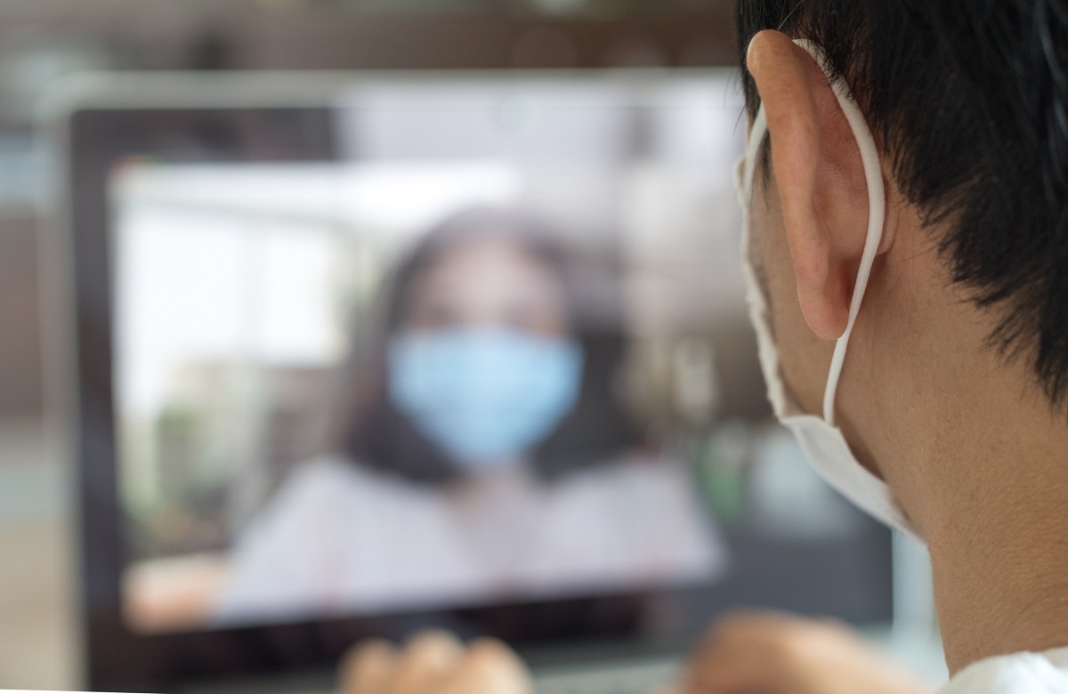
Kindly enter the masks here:
[[769, 612], [721, 619], [694, 651], [681, 694], [931, 694], [831, 620]]

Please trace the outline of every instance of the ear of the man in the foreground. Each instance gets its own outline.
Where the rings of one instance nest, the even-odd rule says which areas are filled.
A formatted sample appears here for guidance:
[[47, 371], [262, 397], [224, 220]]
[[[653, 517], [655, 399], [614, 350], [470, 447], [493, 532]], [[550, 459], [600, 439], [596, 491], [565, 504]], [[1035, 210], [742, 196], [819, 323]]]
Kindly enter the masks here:
[[798, 300], [812, 331], [846, 330], [867, 238], [860, 147], [823, 70], [779, 31], [761, 31], [747, 54], [764, 105]]

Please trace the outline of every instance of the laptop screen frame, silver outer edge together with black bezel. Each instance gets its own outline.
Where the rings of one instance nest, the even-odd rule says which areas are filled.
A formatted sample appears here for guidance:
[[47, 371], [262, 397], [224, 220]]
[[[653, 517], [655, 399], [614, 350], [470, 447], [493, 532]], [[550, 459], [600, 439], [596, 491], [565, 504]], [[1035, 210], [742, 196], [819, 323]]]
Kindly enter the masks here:
[[[670, 74], [722, 78], [726, 72], [686, 69]], [[528, 75], [539, 80], [594, 81], [665, 76], [660, 70], [450, 75], [502, 84]], [[68, 381], [63, 400], [76, 469], [82, 684], [88, 689], [166, 691], [227, 678], [328, 672], [360, 638], [403, 638], [427, 627], [449, 628], [465, 636], [493, 635], [521, 650], [535, 651], [565, 642], [640, 644], [641, 650], [664, 651], [680, 648], [692, 635], [692, 629], [662, 633], [653, 625], [655, 619], [647, 618], [650, 612], [685, 613], [695, 598], [693, 590], [681, 588], [151, 635], [134, 632], [124, 624], [121, 575], [125, 548], [112, 400], [110, 173], [117, 162], [132, 156], [168, 162], [341, 161], [341, 139], [332, 117], [339, 94], [361, 80], [383, 79], [435, 81], [447, 77], [395, 73], [98, 75], [68, 84], [64, 96], [49, 108], [66, 158], [59, 238], [64, 251], [59, 254], [59, 274], [70, 277], [63, 282], [67, 286], [62, 294], [67, 302], [73, 351], [66, 356], [66, 368], [60, 372]], [[757, 593], [768, 606], [833, 613], [853, 621], [889, 620], [893, 595], [890, 534], [874, 524], [865, 533], [870, 533], [870, 556], [846, 569], [858, 582], [874, 581], [874, 595], [862, 590], [846, 596], [844, 601], [849, 604], [836, 609], [818, 592], [797, 588], [818, 580], [828, 563], [834, 563], [832, 557], [806, 552], [796, 543], [753, 548], [742, 541], [731, 549], [742, 553], [796, 552], [797, 572], [789, 577], [734, 577], [711, 588], [711, 612], [747, 601], [750, 587], [759, 584]], [[706, 596], [702, 605], [708, 604]]]

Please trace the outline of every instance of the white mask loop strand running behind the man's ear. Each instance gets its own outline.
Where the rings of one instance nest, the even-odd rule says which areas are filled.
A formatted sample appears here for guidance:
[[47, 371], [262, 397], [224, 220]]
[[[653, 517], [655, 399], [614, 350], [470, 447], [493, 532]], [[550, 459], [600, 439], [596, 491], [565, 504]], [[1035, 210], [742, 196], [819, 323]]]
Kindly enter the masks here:
[[[805, 38], [796, 38], [795, 44], [800, 46], [813, 60], [829, 75], [827, 69], [827, 58], [823, 50], [816, 44]], [[882, 168], [879, 165], [879, 151], [875, 146], [875, 138], [868, 129], [864, 114], [860, 107], [849, 94], [849, 88], [843, 80], [831, 80], [828, 77], [831, 90], [838, 101], [849, 129], [853, 131], [857, 146], [861, 151], [861, 161], [864, 164], [864, 179], [868, 189], [868, 228], [867, 239], [864, 241], [864, 252], [861, 254], [861, 266], [857, 271], [857, 284], [853, 287], [853, 297], [849, 303], [849, 321], [846, 324], [846, 331], [842, 333], [834, 345], [834, 356], [831, 358], [831, 369], [827, 375], [827, 390], [823, 392], [823, 421], [834, 426], [834, 396], [838, 391], [838, 379], [842, 377], [842, 367], [846, 361], [846, 349], [849, 346], [849, 336], [853, 332], [857, 324], [857, 316], [861, 311], [861, 303], [864, 301], [864, 293], [867, 289], [868, 279], [871, 275], [871, 266], [879, 252], [879, 243], [882, 242], [883, 224], [886, 216], [886, 192], [882, 183]]]

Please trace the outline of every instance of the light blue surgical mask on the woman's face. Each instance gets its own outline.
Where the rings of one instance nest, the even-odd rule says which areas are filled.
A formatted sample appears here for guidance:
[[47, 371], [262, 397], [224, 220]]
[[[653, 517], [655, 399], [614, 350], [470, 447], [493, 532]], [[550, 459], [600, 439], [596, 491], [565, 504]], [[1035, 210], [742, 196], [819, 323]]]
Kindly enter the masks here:
[[517, 330], [417, 332], [389, 349], [390, 396], [472, 471], [515, 460], [575, 406], [582, 349]]

